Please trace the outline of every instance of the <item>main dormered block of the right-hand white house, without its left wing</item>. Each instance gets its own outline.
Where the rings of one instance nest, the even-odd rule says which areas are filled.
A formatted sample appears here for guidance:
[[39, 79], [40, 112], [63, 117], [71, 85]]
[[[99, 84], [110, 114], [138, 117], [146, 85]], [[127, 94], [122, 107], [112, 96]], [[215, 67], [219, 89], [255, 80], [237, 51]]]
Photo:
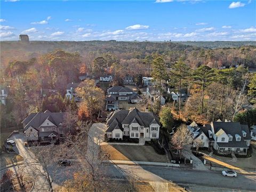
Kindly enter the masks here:
[[239, 122], [212, 122], [210, 124], [213, 133], [213, 148], [218, 153], [247, 154], [250, 146], [251, 135], [248, 125]]

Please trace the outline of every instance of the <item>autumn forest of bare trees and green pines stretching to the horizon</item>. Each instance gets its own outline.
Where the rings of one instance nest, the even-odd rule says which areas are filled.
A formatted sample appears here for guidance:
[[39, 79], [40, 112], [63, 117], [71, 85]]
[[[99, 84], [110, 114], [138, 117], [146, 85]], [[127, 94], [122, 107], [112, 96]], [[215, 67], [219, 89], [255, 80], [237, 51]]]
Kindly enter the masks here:
[[[172, 42], [2, 42], [1, 88], [9, 95], [1, 106], [1, 125], [19, 127], [28, 114], [46, 109], [72, 110], [81, 119], [92, 118], [105, 97], [98, 87], [92, 89], [93, 82], [77, 90], [84, 98], [82, 104], [65, 98], [67, 84], [79, 82], [79, 75], [86, 73], [94, 79], [113, 74], [113, 85], [122, 85], [126, 75], [132, 75], [138, 85], [142, 76], [155, 77], [157, 89], [178, 120], [204, 124], [218, 118], [246, 119], [246, 115], [236, 116], [255, 106], [255, 68], [253, 45], [205, 49]], [[186, 89], [189, 100], [172, 102], [168, 87]], [[42, 98], [41, 90], [55, 94]], [[149, 108], [161, 113], [159, 106]]]

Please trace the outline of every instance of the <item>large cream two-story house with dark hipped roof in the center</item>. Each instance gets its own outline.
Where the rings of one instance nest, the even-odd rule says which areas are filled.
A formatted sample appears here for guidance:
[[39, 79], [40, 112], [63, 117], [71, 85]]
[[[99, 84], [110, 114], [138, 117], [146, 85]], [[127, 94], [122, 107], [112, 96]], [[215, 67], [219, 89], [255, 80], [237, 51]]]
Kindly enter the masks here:
[[130, 138], [158, 139], [160, 123], [153, 112], [131, 110], [116, 110], [107, 118], [107, 137], [123, 139]]

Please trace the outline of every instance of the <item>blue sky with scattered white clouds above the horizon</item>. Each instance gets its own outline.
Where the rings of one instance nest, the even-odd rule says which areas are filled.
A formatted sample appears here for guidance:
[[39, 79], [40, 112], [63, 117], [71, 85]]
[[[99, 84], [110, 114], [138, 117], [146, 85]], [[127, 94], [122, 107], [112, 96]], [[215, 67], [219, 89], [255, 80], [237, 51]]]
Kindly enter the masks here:
[[255, 0], [0, 3], [1, 41], [256, 41]]

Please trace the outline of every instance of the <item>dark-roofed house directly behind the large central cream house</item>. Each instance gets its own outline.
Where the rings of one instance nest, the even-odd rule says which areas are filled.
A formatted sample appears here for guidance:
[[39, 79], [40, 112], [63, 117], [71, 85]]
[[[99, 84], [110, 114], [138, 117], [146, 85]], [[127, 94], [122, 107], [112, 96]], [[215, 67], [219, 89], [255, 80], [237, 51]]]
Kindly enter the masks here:
[[106, 98], [106, 110], [118, 109], [118, 101], [129, 101], [132, 103], [142, 101], [140, 96], [128, 87], [113, 86], [108, 89], [107, 93], [108, 97]]

